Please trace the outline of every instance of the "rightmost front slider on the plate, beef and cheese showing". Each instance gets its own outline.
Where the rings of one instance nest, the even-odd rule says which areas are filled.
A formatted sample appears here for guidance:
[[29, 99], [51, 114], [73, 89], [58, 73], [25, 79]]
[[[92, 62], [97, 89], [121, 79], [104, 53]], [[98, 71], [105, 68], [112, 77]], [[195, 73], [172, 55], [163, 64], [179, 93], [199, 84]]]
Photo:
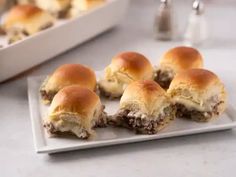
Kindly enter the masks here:
[[178, 73], [167, 93], [177, 107], [177, 117], [209, 121], [226, 107], [226, 91], [219, 78], [205, 69]]

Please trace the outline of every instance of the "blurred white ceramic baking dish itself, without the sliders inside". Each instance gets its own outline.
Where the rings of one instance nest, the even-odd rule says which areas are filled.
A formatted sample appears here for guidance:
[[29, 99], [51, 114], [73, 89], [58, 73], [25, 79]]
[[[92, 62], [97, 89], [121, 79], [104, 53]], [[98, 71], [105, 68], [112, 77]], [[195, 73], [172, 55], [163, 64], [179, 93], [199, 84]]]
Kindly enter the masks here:
[[114, 27], [128, 3], [129, 0], [109, 0], [76, 19], [59, 21], [49, 29], [0, 48], [0, 82]]

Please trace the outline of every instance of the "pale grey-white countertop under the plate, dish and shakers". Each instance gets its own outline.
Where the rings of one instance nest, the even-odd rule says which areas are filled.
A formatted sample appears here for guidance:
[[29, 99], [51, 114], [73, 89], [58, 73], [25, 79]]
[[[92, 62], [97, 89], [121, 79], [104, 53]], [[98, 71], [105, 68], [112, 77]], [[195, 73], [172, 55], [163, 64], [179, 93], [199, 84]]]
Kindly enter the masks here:
[[[200, 50], [205, 67], [225, 82], [229, 101], [236, 107], [236, 3], [212, 3], [206, 5], [211, 36]], [[191, 2], [180, 0], [176, 7], [179, 30], [183, 31]], [[1, 177], [234, 176], [236, 129], [54, 155], [34, 151], [27, 77], [50, 73], [64, 63], [78, 62], [101, 70], [114, 54], [124, 50], [141, 52], [157, 64], [165, 50], [182, 42], [152, 38], [156, 9], [154, 0], [133, 0], [118, 27], [0, 84]]]

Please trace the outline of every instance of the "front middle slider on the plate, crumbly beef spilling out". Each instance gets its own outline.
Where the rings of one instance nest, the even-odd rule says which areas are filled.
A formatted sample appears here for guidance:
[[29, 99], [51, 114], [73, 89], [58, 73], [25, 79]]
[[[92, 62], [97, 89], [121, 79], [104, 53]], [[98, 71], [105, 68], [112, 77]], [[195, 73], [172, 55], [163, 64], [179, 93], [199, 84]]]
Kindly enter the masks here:
[[175, 106], [156, 82], [135, 81], [125, 89], [120, 109], [109, 123], [136, 133], [155, 134], [175, 118], [175, 113]]

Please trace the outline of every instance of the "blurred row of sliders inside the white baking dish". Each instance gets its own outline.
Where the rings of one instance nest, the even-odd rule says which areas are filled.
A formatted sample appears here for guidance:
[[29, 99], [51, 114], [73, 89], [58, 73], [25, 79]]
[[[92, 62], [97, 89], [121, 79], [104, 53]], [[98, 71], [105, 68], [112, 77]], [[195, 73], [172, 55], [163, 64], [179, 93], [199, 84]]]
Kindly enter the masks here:
[[106, 0], [17, 0], [1, 18], [0, 35], [8, 43], [52, 27], [58, 18], [74, 18]]

